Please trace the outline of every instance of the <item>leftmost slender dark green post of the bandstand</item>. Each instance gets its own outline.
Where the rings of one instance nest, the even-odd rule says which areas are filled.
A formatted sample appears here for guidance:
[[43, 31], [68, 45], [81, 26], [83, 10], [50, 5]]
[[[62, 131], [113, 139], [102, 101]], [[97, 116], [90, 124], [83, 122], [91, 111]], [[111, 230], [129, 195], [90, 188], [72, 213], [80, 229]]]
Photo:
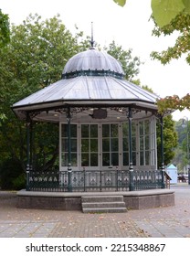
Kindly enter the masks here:
[[26, 114], [26, 191], [29, 190], [30, 171], [30, 117]]

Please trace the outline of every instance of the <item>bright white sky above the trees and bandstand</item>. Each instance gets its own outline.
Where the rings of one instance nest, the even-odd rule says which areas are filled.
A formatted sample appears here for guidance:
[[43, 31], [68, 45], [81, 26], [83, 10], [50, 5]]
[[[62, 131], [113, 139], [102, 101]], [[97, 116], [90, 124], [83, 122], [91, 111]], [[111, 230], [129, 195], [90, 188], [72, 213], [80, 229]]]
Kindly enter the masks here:
[[[142, 85], [148, 85], [161, 97], [174, 94], [182, 97], [190, 92], [190, 67], [185, 58], [173, 60], [165, 66], [150, 59], [153, 50], [163, 50], [174, 44], [174, 36], [152, 37], [153, 22], [149, 21], [151, 0], [127, 0], [124, 7], [112, 0], [2, 0], [0, 8], [16, 25], [30, 13], [37, 13], [44, 19], [59, 14], [72, 33], [76, 33], [77, 25], [85, 36], [90, 36], [93, 22], [94, 40], [102, 47], [114, 39], [123, 49], [132, 48], [133, 56], [144, 62], [138, 76]], [[173, 115], [174, 120], [183, 117], [190, 120], [188, 111], [174, 112]]]

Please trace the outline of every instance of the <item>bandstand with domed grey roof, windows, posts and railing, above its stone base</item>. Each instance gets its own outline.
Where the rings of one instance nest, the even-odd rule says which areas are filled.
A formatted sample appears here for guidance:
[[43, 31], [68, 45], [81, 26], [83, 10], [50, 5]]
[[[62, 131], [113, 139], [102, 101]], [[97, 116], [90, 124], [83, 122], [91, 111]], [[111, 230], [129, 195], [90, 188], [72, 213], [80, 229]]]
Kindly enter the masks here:
[[[165, 188], [163, 137], [159, 168], [156, 145], [156, 122], [162, 135], [163, 116], [158, 114], [157, 99], [124, 80], [120, 62], [93, 44], [73, 56], [61, 80], [13, 105], [27, 129], [26, 191], [18, 196], [63, 193], [70, 198], [76, 193], [150, 189], [163, 195], [167, 190], [160, 189]], [[33, 122], [59, 124], [57, 171], [37, 172], [32, 167]]]

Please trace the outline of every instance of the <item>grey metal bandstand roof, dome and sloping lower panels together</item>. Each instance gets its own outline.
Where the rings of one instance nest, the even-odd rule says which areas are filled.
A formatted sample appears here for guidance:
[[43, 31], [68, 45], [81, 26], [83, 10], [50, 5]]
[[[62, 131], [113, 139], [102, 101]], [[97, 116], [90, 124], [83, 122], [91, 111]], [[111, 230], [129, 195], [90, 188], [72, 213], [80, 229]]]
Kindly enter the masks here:
[[69, 59], [61, 80], [16, 102], [13, 111], [24, 120], [27, 112], [36, 118], [37, 115], [42, 117], [42, 112], [46, 112], [41, 119], [47, 122], [55, 121], [58, 110], [69, 106], [72, 108], [132, 106], [144, 112], [156, 112], [156, 100], [159, 97], [122, 79], [122, 76], [120, 62], [106, 53], [91, 48]]

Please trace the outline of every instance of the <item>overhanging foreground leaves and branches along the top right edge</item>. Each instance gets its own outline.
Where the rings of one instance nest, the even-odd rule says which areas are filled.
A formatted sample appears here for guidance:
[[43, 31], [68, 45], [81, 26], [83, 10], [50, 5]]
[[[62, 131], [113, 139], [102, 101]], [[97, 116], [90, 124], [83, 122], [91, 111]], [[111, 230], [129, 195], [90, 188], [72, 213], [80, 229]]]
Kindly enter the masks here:
[[[113, 0], [116, 4], [124, 6], [126, 0]], [[189, 0], [152, 0], [154, 29], [153, 36], [170, 36], [177, 33], [174, 46], [168, 47], [162, 52], [153, 51], [151, 56], [158, 59], [164, 65], [172, 59], [179, 59], [185, 55], [190, 64], [190, 1]], [[168, 108], [183, 111], [190, 109], [190, 95], [187, 93], [181, 99], [178, 95], [167, 96], [158, 101], [159, 112], [165, 112]]]

